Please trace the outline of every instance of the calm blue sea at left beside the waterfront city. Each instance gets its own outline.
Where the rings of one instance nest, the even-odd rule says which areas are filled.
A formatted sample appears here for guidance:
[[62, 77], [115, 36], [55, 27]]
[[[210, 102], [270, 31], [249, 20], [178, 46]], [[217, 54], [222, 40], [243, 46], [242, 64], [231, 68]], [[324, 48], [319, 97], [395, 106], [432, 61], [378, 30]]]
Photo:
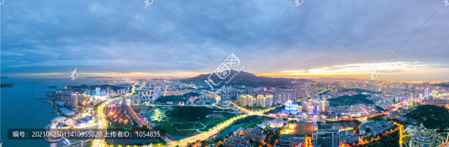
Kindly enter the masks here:
[[[44, 140], [7, 140], [7, 129], [42, 129], [56, 115], [50, 104], [37, 100], [43, 98], [45, 91], [56, 91], [47, 86], [94, 85], [98, 79], [48, 79], [48, 78], [10, 78], [1, 83], [15, 83], [14, 87], [0, 89], [0, 142], [3, 147], [63, 147], [61, 143], [50, 144]], [[34, 115], [33, 115], [34, 114]]]

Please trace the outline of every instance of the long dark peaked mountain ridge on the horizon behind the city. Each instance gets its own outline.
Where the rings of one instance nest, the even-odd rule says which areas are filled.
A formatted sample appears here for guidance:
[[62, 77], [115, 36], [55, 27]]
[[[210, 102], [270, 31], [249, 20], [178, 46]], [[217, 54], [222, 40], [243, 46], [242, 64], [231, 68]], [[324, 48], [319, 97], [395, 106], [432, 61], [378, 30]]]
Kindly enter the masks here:
[[[236, 74], [232, 79], [232, 75]], [[200, 74], [195, 77], [190, 77], [186, 79], [180, 79], [181, 82], [184, 83], [193, 83], [193, 84], [206, 84], [205, 80], [207, 80], [208, 76], [211, 74]], [[310, 79], [306, 78], [278, 78], [278, 77], [266, 77], [266, 76], [256, 76], [251, 73], [246, 73], [240, 71], [240, 73], [237, 73], [237, 71], [231, 70], [229, 76], [225, 79], [219, 78], [217, 75], [213, 74], [211, 76], [211, 79], [218, 83], [222, 81], [220, 86], [223, 86], [226, 81], [229, 81], [228, 85], [237, 85], [237, 86], [270, 86], [270, 87], [277, 87], [277, 86], [286, 86], [286, 85], [292, 85], [292, 81], [298, 82], [315, 82]], [[230, 79], [230, 80], [229, 80]]]

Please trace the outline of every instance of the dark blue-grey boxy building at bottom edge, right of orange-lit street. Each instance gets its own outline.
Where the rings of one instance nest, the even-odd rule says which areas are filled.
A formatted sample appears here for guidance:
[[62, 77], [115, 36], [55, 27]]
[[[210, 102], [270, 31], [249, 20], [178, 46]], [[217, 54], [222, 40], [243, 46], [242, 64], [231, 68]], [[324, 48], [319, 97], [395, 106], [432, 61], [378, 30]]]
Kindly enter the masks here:
[[338, 147], [338, 131], [334, 129], [318, 129], [312, 131], [312, 140], [319, 147]]

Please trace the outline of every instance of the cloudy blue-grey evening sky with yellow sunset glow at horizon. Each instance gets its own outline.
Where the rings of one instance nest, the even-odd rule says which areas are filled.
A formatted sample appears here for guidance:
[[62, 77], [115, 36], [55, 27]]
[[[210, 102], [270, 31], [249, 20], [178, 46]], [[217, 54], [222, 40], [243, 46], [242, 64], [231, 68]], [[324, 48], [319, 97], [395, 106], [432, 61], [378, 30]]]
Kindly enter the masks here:
[[[301, 1], [301, 0], [300, 0]], [[151, 2], [151, 0], [149, 0]], [[5, 0], [0, 74], [449, 79], [442, 0]]]

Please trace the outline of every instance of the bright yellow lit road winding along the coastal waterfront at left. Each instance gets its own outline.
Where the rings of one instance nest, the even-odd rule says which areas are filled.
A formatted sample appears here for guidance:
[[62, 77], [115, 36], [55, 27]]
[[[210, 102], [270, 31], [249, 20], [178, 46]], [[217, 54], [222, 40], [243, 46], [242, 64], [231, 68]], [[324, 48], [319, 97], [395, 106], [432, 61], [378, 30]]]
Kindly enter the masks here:
[[[124, 95], [124, 96], [129, 96], [129, 95], [134, 94], [134, 92], [135, 92], [135, 90], [136, 90], [136, 85], [137, 85], [137, 83], [138, 83], [138, 82], [136, 82], [136, 83], [133, 85], [132, 92], [131, 92], [131, 93], [128, 93], [128, 94], [126, 94], [126, 95]], [[104, 103], [100, 104], [100, 106], [98, 106], [98, 108], [97, 108], [98, 129], [101, 129], [101, 130], [100, 130], [100, 131], [101, 131], [101, 134], [106, 134], [107, 124], [108, 124], [108, 122], [106, 121], [105, 114], [104, 114], [104, 107], [105, 107], [107, 104], [109, 104], [110, 102], [112, 102], [112, 101], [114, 101], [114, 100], [117, 100], [117, 99], [119, 99], [119, 98], [121, 98], [121, 97], [117, 97], [117, 98], [114, 98], [114, 99], [107, 100], [106, 102], [104, 102]], [[105, 146], [103, 145], [105, 139], [106, 139], [105, 136], [102, 136], [102, 137], [95, 137], [95, 140], [94, 140], [94, 142], [93, 142], [93, 144], [92, 144], [92, 147], [105, 147]]]

